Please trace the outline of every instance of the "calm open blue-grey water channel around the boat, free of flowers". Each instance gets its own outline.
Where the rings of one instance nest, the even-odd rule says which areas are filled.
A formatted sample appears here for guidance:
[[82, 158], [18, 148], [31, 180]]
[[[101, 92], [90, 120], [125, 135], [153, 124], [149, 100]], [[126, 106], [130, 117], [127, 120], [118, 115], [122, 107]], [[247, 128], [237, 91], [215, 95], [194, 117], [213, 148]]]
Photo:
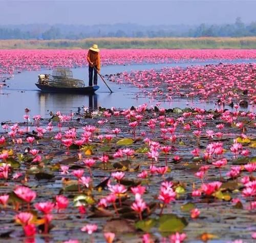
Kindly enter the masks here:
[[[255, 60], [221, 60], [228, 63], [254, 62]], [[188, 67], [189, 65], [217, 64], [219, 60], [176, 62], [169, 64], [132, 64], [132, 65], [111, 65], [102, 67], [102, 74], [115, 74], [130, 72], [132, 70], [161, 69], [163, 67]], [[72, 69], [73, 76], [82, 80], [88, 80], [88, 68]], [[62, 113], [77, 112], [78, 107], [86, 106], [97, 108], [112, 107], [128, 108], [142, 103], [156, 105], [158, 101], [149, 98], [136, 98], [141, 93], [139, 89], [131, 85], [109, 83], [114, 93], [110, 94], [106, 85], [98, 78], [100, 89], [92, 95], [79, 94], [56, 94], [42, 93], [35, 86], [39, 73], [52, 73], [52, 70], [25, 71], [16, 74], [12, 79], [7, 80], [7, 86], [0, 90], [0, 121], [22, 121], [24, 109], [28, 107], [32, 115], [40, 114], [42, 117], [50, 117], [50, 112], [61, 111]], [[161, 106], [172, 107], [195, 107], [214, 108], [212, 103], [199, 103], [186, 99], [174, 100], [172, 102], [162, 101]]]

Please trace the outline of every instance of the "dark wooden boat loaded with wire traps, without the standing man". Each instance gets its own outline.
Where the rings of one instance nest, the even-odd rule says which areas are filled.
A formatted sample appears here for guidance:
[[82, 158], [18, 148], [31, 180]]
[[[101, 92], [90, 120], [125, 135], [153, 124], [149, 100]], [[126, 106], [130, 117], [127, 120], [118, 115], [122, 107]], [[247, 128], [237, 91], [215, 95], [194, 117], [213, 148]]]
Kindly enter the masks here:
[[93, 94], [99, 86], [86, 86], [80, 79], [73, 78], [67, 68], [56, 68], [51, 74], [39, 74], [35, 85], [44, 92]]

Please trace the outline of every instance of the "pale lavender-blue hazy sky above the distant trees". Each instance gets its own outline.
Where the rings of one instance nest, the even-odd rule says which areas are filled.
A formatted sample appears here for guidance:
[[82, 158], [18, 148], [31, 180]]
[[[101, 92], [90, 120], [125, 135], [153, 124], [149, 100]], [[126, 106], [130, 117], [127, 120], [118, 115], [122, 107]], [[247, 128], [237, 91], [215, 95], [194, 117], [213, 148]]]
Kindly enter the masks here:
[[0, 25], [198, 25], [256, 21], [256, 0], [0, 0]]

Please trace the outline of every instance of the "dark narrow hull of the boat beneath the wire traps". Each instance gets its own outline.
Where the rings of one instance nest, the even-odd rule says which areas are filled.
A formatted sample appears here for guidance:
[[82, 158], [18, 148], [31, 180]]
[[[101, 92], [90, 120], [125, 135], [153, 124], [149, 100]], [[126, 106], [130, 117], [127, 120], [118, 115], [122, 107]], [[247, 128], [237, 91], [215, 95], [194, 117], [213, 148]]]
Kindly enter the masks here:
[[35, 83], [35, 85], [43, 92], [53, 93], [73, 93], [73, 94], [94, 94], [99, 89], [98, 85], [80, 87], [80, 88], [67, 88], [67, 87], [53, 87]]

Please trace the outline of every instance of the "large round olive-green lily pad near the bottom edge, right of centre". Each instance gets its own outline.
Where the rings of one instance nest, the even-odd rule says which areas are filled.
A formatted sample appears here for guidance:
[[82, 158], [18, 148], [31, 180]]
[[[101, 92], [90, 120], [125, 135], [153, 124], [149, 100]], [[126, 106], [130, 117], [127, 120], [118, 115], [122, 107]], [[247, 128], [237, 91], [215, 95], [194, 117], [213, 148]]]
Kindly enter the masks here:
[[175, 214], [164, 214], [159, 218], [160, 232], [181, 232], [187, 225], [184, 217]]

